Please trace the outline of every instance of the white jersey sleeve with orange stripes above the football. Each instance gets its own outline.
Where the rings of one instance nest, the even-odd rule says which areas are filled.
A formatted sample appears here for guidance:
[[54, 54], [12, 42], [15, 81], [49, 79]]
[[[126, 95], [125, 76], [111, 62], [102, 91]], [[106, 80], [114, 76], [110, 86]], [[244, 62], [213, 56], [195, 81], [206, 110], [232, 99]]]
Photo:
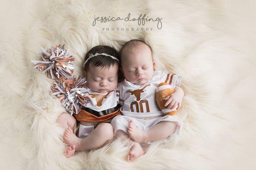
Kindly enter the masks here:
[[180, 75], [166, 73], [166, 72], [161, 73], [161, 81], [171, 85], [172, 89], [174, 89], [175, 86], [180, 86], [181, 80], [182, 80], [182, 77]]

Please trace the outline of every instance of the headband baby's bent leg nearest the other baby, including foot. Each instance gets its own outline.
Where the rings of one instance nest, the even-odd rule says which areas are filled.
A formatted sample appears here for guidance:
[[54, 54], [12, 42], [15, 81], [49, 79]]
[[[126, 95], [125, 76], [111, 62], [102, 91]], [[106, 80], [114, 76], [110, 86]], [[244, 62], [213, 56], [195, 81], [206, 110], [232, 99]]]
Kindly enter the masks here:
[[67, 128], [64, 140], [70, 146], [75, 145], [76, 151], [90, 150], [108, 144], [114, 138], [113, 127], [109, 123], [102, 123], [86, 138], [78, 138], [70, 127]]

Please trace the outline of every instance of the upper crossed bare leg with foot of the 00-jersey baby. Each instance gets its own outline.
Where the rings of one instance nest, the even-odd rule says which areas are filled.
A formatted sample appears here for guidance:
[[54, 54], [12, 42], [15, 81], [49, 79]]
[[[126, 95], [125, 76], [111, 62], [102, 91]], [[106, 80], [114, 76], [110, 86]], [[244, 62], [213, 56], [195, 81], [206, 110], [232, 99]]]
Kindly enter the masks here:
[[143, 131], [138, 129], [131, 120], [129, 124], [128, 134], [138, 143], [146, 143], [148, 141], [158, 141], [168, 138], [172, 133], [175, 133], [178, 128], [178, 123], [174, 121], [161, 121], [152, 127], [150, 130]]

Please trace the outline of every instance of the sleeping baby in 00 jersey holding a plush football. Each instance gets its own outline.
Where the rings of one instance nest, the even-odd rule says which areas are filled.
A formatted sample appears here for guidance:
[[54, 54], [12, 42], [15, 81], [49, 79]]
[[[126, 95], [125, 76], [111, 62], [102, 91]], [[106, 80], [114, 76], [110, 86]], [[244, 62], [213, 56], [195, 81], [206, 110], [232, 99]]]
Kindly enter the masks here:
[[[130, 40], [119, 52], [119, 61], [125, 80], [119, 84], [122, 115], [111, 121], [116, 137], [130, 137], [131, 146], [126, 159], [134, 161], [144, 154], [141, 144], [152, 141], [171, 141], [180, 135], [181, 123], [173, 116], [180, 109], [184, 95], [181, 77], [154, 71], [151, 47], [141, 40]], [[157, 105], [157, 86], [162, 92], [166, 86], [172, 90], [163, 96], [163, 107]]]

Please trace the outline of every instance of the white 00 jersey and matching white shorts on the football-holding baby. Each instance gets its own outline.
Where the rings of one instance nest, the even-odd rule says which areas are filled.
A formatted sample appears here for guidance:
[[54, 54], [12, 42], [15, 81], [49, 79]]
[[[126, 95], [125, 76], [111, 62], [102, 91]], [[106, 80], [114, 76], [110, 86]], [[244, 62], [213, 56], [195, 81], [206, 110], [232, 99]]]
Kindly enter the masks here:
[[[119, 103], [122, 105], [120, 109], [122, 115], [117, 115], [111, 121], [114, 132], [123, 130], [128, 133], [128, 125], [131, 120], [134, 120], [134, 124], [144, 131], [151, 129], [161, 121], [175, 121], [180, 126], [165, 141], [170, 141], [176, 135], [180, 135], [181, 122], [174, 116], [166, 115], [160, 110], [156, 101], [156, 89], [158, 84], [162, 82], [170, 84], [174, 89], [175, 86], [180, 86], [181, 79], [179, 75], [154, 71], [152, 79], [143, 85], [133, 84], [126, 79], [119, 83]], [[176, 109], [177, 107], [173, 110]]]

